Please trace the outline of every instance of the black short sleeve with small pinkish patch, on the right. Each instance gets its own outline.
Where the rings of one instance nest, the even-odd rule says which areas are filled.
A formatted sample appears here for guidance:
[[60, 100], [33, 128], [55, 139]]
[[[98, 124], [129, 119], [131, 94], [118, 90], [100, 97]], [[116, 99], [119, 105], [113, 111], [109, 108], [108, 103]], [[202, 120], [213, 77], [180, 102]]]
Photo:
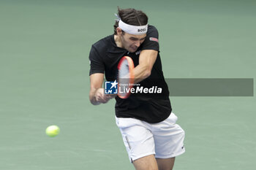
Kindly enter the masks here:
[[157, 50], [159, 51], [158, 31], [154, 26], [148, 26], [148, 32], [141, 50]]

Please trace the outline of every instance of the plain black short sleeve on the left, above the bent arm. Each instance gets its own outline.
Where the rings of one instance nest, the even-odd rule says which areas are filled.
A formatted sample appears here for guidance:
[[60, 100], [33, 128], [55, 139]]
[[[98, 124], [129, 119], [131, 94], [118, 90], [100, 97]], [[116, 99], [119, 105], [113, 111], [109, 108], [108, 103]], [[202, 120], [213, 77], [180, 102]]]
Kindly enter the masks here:
[[99, 53], [97, 52], [97, 50], [94, 46], [91, 46], [89, 62], [90, 62], [89, 75], [94, 74], [94, 73], [104, 73], [105, 65], [102, 61], [102, 58], [100, 57]]

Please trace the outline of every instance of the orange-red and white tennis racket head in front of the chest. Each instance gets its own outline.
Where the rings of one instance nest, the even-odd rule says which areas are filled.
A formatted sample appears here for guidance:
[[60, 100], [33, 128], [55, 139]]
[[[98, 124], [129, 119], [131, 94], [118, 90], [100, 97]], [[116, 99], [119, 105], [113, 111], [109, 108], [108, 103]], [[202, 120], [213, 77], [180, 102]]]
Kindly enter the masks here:
[[128, 98], [134, 82], [134, 63], [132, 58], [124, 56], [118, 63], [118, 97]]

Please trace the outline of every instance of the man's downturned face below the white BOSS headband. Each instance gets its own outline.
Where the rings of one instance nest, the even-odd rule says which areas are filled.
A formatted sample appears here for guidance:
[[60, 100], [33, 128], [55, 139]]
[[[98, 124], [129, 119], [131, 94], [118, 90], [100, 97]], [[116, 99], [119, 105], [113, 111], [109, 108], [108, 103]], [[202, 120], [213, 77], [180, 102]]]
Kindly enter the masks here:
[[138, 47], [140, 47], [140, 45], [146, 39], [146, 34], [132, 35], [128, 33], [122, 33], [120, 38], [122, 47], [128, 50], [130, 53], [135, 53], [135, 51], [138, 50]]

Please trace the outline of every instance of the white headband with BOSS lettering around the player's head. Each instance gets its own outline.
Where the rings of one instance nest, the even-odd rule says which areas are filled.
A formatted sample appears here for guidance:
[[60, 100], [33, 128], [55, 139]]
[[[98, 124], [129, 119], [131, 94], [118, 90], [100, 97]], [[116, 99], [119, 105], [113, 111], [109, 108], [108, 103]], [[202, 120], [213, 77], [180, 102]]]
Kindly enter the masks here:
[[120, 27], [124, 32], [132, 35], [142, 35], [146, 34], [148, 31], [148, 24], [146, 26], [132, 26], [124, 23], [121, 19], [119, 20], [118, 27]]

